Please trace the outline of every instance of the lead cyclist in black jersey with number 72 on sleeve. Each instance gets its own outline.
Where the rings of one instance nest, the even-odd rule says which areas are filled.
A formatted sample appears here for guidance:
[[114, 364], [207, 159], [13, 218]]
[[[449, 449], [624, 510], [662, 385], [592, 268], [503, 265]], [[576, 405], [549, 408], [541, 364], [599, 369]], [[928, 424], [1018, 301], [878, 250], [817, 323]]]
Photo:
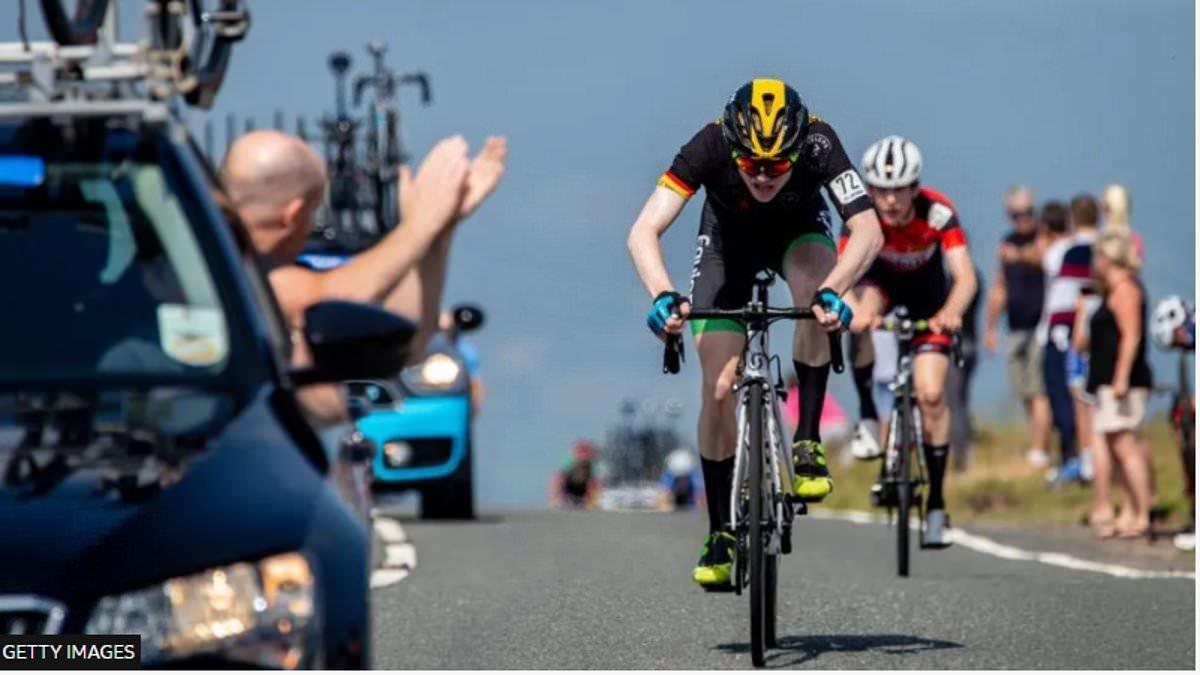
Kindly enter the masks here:
[[[689, 297], [676, 291], [659, 239], [701, 187], [706, 191]], [[852, 235], [839, 259], [824, 187]], [[833, 127], [779, 79], [739, 88], [716, 123], [706, 125], [659, 179], [629, 234], [637, 274], [654, 299], [647, 322], [659, 336], [679, 334], [691, 306], [738, 309], [750, 300], [755, 274], [779, 271], [797, 305], [811, 305], [818, 322], [797, 322], [793, 359], [800, 422], [793, 455], [797, 496], [820, 501], [833, 490], [818, 423], [829, 376], [822, 330], [851, 319], [841, 295], [863, 275], [883, 235], [871, 199]], [[692, 578], [727, 586], [733, 537], [728, 532], [734, 454], [734, 400], [730, 389], [745, 344], [733, 321], [694, 321], [703, 387], [701, 468], [709, 534]]]

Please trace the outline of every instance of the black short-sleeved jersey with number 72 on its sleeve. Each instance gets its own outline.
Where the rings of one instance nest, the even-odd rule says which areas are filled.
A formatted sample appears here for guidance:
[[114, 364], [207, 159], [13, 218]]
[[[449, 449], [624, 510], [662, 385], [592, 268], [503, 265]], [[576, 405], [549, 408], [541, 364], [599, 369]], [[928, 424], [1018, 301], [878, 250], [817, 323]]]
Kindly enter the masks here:
[[700, 130], [676, 155], [659, 185], [691, 197], [701, 187], [707, 202], [721, 222], [763, 222], [780, 219], [811, 217], [820, 190], [841, 215], [851, 216], [871, 208], [862, 177], [846, 156], [846, 150], [828, 123], [810, 118], [792, 177], [770, 202], [758, 202], [750, 195], [733, 162], [733, 151], [721, 132], [720, 123]]

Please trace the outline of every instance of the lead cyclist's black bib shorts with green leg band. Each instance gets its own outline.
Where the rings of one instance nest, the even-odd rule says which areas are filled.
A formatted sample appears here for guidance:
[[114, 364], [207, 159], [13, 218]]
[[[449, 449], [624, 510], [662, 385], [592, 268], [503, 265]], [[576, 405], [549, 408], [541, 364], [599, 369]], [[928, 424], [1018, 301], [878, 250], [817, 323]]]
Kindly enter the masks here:
[[[754, 277], [763, 269], [784, 275], [784, 259], [798, 244], [817, 243], [836, 250], [824, 199], [812, 199], [803, 217], [785, 222], [733, 222], [722, 219], [709, 202], [700, 216], [696, 258], [691, 268], [689, 300], [692, 307], [738, 310], [750, 301]], [[694, 319], [692, 333], [745, 331], [739, 321]]]

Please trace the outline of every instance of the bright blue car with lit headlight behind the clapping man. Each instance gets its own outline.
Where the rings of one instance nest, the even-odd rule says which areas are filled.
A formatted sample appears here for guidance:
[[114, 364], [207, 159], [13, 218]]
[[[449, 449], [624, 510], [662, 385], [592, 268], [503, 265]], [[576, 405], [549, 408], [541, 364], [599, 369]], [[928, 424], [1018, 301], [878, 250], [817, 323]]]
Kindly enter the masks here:
[[[455, 307], [452, 316], [457, 334], [484, 321], [470, 305]], [[425, 358], [400, 377], [347, 383], [359, 430], [377, 449], [374, 491], [420, 492], [422, 518], [469, 519], [475, 513], [469, 348], [438, 334]]]

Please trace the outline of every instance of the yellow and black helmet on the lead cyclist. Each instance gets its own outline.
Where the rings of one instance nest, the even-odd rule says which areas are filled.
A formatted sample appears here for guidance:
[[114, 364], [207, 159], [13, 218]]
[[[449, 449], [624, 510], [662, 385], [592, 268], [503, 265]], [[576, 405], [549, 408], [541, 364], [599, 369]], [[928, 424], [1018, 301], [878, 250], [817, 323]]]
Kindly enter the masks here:
[[725, 104], [721, 129], [733, 150], [751, 159], [794, 159], [809, 125], [800, 95], [781, 79], [742, 85]]

